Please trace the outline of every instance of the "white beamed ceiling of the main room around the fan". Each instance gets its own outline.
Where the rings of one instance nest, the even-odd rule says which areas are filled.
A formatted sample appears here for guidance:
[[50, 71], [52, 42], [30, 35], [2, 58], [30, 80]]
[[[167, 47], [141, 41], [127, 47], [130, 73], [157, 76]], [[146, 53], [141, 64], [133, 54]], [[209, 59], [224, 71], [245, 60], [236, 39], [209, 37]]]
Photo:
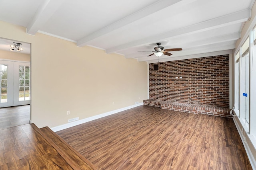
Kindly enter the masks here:
[[183, 49], [160, 61], [234, 49], [254, 1], [1, 0], [0, 20], [24, 26], [28, 34], [45, 33], [154, 63], [158, 57], [147, 56], [158, 42], [164, 49]]

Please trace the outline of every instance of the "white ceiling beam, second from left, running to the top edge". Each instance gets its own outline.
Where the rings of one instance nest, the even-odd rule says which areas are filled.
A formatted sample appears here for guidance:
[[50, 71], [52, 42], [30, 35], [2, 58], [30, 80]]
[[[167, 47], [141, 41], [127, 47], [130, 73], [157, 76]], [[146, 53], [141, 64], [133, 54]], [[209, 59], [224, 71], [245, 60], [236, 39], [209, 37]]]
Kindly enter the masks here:
[[[173, 4], [176, 4], [180, 1], [182, 1], [182, 0], [159, 0], [159, 1], [155, 2], [154, 4], [151, 4], [151, 5], [147, 6], [146, 8], [143, 8], [142, 10], [123, 18], [122, 20], [112, 23], [94, 33], [91, 33], [90, 35], [87, 35], [86, 37], [79, 39], [77, 41], [77, 46], [82, 47], [84, 45], [87, 45], [87, 42], [92, 39], [96, 39], [97, 37], [100, 37], [104, 34], [110, 33], [111, 31], [114, 31], [114, 30], [116, 30], [120, 27], [123, 27], [129, 23], [132, 23], [136, 20], [140, 20], [141, 18], [144, 18], [144, 17], [151, 15], [155, 12], [158, 12], [159, 10], [162, 10], [164, 8], [172, 6]], [[194, 1], [195, 0], [188, 0], [188, 1], [184, 1], [184, 2], [190, 3], [190, 2], [194, 2]]]

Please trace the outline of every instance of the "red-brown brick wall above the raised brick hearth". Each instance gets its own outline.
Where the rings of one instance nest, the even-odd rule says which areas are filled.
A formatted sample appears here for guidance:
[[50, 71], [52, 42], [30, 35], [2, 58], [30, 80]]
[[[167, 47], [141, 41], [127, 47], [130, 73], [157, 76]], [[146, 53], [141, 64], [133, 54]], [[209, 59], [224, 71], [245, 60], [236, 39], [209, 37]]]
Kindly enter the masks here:
[[229, 55], [154, 64], [149, 64], [150, 99], [229, 107]]

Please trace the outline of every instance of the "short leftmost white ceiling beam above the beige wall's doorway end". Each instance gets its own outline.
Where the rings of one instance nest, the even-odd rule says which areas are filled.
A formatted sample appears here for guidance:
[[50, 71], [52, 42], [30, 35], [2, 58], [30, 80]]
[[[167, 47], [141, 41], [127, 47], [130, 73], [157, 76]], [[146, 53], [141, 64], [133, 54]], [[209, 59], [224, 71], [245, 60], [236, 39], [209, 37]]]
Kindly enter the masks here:
[[27, 25], [27, 34], [35, 35], [56, 10], [58, 10], [62, 2], [63, 0], [44, 0]]

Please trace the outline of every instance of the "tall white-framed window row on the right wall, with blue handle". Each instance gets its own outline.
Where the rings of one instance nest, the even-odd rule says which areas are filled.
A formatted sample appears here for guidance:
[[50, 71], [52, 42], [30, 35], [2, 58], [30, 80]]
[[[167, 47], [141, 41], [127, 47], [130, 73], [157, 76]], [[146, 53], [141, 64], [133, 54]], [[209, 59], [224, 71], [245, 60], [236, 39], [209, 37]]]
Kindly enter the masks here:
[[[234, 111], [243, 130], [256, 139], [256, 27], [234, 54]], [[255, 145], [255, 144], [254, 144]]]

